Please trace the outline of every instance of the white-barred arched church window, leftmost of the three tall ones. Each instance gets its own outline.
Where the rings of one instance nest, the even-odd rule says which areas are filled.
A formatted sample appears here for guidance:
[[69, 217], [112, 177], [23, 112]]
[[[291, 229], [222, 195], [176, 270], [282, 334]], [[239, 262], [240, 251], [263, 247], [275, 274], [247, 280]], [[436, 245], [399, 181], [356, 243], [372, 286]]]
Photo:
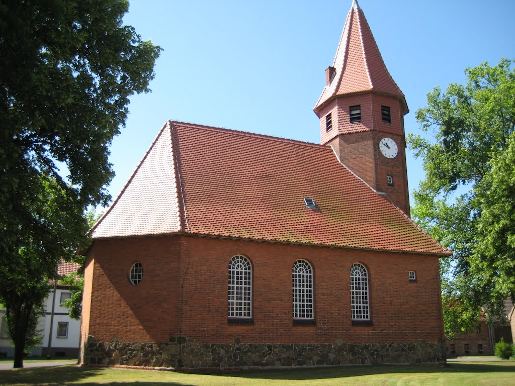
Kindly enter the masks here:
[[229, 318], [252, 318], [252, 266], [248, 258], [236, 255], [229, 261]]

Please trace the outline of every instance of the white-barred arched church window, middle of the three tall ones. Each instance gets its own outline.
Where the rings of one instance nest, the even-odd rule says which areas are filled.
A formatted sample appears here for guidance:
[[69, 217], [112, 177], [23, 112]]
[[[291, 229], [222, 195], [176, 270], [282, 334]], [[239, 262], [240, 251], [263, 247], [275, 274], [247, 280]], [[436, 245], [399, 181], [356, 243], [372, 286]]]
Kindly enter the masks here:
[[313, 269], [306, 260], [297, 260], [291, 270], [293, 318], [313, 319]]

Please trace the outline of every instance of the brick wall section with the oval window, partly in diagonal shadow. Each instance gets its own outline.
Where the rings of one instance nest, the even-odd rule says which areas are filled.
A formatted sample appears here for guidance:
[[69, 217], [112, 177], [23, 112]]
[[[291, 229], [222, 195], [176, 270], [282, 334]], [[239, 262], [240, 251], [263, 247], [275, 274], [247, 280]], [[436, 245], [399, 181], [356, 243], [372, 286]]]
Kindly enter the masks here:
[[[96, 241], [89, 335], [99, 341], [167, 342], [177, 335], [180, 238], [133, 238]], [[134, 286], [129, 272], [143, 265]], [[84, 310], [88, 312], [88, 310]]]

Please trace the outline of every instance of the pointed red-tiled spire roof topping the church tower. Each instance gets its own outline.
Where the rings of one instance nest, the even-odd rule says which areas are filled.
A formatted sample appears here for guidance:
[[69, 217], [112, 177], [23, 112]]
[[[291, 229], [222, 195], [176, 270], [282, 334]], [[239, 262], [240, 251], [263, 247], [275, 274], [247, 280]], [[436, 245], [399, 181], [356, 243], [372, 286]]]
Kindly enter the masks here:
[[318, 113], [326, 102], [335, 97], [364, 92], [397, 97], [402, 102], [403, 113], [408, 112], [404, 94], [388, 72], [365, 14], [356, 0], [353, 0], [347, 15], [332, 67], [334, 76], [325, 85], [315, 112]]

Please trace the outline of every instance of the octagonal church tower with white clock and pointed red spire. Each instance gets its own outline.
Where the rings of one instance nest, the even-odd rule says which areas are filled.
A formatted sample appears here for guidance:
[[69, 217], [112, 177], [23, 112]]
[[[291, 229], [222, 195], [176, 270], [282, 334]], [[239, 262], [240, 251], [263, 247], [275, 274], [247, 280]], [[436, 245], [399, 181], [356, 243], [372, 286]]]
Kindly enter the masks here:
[[314, 108], [322, 145], [409, 216], [404, 94], [392, 79], [356, 0]]

